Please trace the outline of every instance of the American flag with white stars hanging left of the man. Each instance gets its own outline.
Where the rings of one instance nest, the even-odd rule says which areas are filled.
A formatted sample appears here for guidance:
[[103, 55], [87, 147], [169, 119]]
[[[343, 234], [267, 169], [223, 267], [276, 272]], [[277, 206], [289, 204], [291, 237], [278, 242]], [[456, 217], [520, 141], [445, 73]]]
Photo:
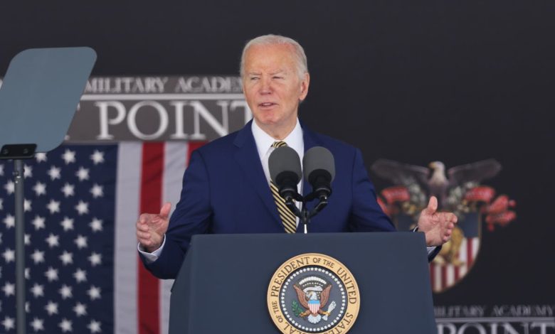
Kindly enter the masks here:
[[[63, 145], [24, 161], [28, 333], [167, 332], [172, 281], [139, 263], [135, 222], [176, 204], [200, 145]], [[16, 333], [12, 171], [0, 161], [0, 333]]]

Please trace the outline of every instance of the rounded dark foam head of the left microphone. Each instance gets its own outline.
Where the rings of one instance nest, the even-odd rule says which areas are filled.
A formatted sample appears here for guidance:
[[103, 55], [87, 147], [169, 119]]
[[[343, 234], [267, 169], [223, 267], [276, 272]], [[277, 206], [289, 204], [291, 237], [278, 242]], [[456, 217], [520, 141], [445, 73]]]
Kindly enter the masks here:
[[270, 154], [268, 169], [270, 170], [270, 178], [278, 187], [281, 183], [279, 176], [284, 173], [294, 179], [295, 185], [302, 179], [299, 155], [289, 146], [278, 147]]

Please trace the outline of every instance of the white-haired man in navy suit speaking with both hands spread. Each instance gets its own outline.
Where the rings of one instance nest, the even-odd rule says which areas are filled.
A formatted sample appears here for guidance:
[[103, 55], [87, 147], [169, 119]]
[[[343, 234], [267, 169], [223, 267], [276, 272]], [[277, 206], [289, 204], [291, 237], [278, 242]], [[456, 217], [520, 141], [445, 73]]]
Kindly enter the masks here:
[[[268, 156], [275, 141], [285, 141], [301, 159], [313, 146], [324, 146], [334, 156], [333, 194], [312, 219], [310, 232], [394, 231], [376, 202], [359, 149], [300, 124], [298, 107], [310, 83], [301, 45], [283, 36], [254, 38], [243, 49], [240, 75], [253, 121], [192, 153], [170, 219], [169, 203], [159, 214], [139, 217], [139, 253], [147, 269], [162, 279], [175, 278], [191, 235], [285, 232], [270, 192]], [[307, 183], [298, 187], [305, 195], [310, 190]], [[418, 221], [428, 247], [447, 242], [457, 220], [437, 208], [437, 199], [430, 198]]]

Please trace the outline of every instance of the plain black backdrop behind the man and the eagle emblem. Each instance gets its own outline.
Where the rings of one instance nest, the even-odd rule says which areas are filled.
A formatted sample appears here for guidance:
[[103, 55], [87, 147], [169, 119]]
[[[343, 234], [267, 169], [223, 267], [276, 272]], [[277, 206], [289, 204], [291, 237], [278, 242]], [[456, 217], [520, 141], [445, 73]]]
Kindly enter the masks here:
[[[517, 219], [482, 225], [472, 270], [434, 295], [443, 333], [486, 333], [457, 317], [553, 319], [553, 1], [46, 1], [0, 16], [0, 76], [23, 49], [73, 45], [95, 48], [95, 76], [234, 76], [249, 38], [295, 38], [311, 74], [302, 121], [358, 146], [367, 167], [501, 163], [483, 183], [516, 201]], [[515, 333], [555, 333], [520, 322]]]

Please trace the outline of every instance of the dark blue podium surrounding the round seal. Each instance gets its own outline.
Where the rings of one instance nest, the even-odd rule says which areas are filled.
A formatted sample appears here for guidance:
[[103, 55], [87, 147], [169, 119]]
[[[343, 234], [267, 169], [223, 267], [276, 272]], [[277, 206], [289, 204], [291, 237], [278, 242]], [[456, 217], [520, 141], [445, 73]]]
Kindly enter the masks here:
[[172, 287], [169, 333], [280, 333], [268, 311], [270, 280], [308, 253], [337, 259], [356, 279], [349, 334], [435, 333], [424, 235], [411, 232], [196, 235]]

